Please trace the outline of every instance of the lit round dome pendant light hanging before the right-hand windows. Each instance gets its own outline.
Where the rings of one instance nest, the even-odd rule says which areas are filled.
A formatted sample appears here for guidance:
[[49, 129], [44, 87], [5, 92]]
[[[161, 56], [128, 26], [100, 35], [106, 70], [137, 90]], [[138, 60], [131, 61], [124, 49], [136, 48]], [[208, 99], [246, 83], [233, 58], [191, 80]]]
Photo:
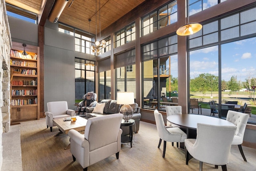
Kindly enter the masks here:
[[188, 35], [192, 35], [198, 31], [200, 31], [202, 29], [202, 25], [199, 23], [188, 23], [185, 24], [184, 26], [181, 26], [180, 28], [178, 28], [178, 30], [176, 31], [176, 34], [178, 34], [179, 36], [188, 36]]

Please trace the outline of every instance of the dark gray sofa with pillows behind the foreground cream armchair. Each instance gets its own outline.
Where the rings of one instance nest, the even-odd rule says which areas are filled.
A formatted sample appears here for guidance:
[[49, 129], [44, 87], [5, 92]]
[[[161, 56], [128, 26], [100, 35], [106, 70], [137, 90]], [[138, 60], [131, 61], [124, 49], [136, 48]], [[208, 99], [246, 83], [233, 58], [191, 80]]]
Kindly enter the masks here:
[[[122, 105], [119, 105], [116, 103], [116, 100], [110, 100], [110, 99], [103, 99], [100, 103], [106, 103], [104, 107], [104, 113], [92, 113], [94, 107], [87, 107], [86, 108], [86, 119], [90, 117], [97, 117], [97, 116], [102, 116], [102, 115], [109, 115], [109, 114], [114, 114], [114, 113], [119, 113], [120, 107]], [[133, 131], [138, 133], [139, 128], [140, 128], [140, 107], [138, 106], [137, 103], [134, 103], [131, 105], [132, 108], [134, 109], [134, 113], [132, 115], [132, 119], [135, 120], [135, 125], [133, 125]], [[130, 130], [129, 127], [121, 127], [123, 130], [122, 135], [128, 135]]]

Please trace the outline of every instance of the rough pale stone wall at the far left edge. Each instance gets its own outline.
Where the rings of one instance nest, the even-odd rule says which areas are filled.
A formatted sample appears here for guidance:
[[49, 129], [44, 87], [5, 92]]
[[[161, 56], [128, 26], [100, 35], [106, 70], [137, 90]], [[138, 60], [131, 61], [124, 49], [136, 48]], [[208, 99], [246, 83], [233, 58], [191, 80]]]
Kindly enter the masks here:
[[[0, 2], [0, 168], [3, 161], [2, 133], [10, 130], [11, 36], [4, 0]], [[2, 67], [1, 67], [2, 66]]]

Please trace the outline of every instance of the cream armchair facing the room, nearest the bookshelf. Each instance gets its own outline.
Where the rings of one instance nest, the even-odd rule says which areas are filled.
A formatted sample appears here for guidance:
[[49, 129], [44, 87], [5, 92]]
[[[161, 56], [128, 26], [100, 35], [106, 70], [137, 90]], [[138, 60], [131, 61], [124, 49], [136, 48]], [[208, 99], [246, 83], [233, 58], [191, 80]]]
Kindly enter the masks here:
[[52, 132], [52, 127], [56, 126], [53, 122], [54, 118], [61, 117], [71, 117], [75, 116], [76, 112], [72, 109], [68, 109], [67, 101], [52, 101], [47, 103], [47, 110], [44, 114], [46, 115], [46, 125], [47, 128], [50, 127]]

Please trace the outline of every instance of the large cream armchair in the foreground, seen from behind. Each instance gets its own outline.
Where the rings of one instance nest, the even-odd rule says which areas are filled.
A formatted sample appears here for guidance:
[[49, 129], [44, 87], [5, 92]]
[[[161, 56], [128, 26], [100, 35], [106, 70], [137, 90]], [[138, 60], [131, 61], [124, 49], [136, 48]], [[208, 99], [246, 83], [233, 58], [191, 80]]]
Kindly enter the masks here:
[[87, 170], [87, 167], [113, 154], [119, 157], [121, 150], [120, 129], [123, 115], [121, 113], [89, 118], [84, 135], [71, 129], [70, 151], [74, 161]]

